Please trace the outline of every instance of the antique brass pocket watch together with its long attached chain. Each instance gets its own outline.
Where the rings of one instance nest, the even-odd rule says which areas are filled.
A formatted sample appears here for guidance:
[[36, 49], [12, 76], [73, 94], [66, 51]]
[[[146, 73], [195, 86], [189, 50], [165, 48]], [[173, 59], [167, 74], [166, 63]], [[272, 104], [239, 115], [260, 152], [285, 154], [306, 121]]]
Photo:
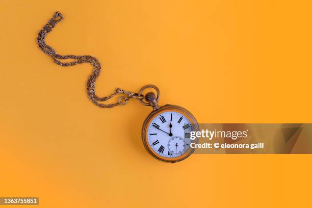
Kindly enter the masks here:
[[[152, 107], [153, 111], [147, 116], [142, 127], [142, 140], [146, 150], [154, 157], [164, 162], [175, 163], [189, 157], [194, 148], [191, 143], [197, 143], [197, 140], [191, 140], [192, 131], [199, 131], [195, 117], [186, 109], [174, 105], [165, 105], [160, 107], [158, 101], [160, 91], [154, 85], [142, 87], [139, 93], [125, 91], [117, 88], [112, 94], [99, 97], [95, 94], [95, 82], [101, 72], [99, 61], [92, 56], [59, 55], [56, 51], [45, 43], [46, 34], [52, 31], [55, 25], [63, 19], [60, 12], [56, 12], [44, 28], [39, 32], [37, 43], [39, 48], [48, 56], [53, 58], [54, 62], [61, 66], [74, 66], [76, 64], [90, 63], [93, 66], [93, 72], [87, 81], [87, 94], [89, 99], [100, 108], [113, 108], [115, 106], [125, 105], [129, 99], [136, 98], [142, 105]], [[61, 62], [62, 59], [73, 59], [72, 62]], [[143, 96], [143, 90], [153, 88], [157, 95], [148, 92]], [[118, 102], [104, 104], [115, 95], [124, 94], [118, 98]]]

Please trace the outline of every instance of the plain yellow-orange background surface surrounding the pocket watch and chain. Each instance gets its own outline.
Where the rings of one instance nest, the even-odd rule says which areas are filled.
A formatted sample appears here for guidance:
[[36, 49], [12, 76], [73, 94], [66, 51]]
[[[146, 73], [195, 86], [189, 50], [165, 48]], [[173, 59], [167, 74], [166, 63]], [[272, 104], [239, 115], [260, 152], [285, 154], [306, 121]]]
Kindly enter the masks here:
[[91, 66], [58, 66], [36, 43], [60, 11], [46, 42], [97, 57], [99, 95], [154, 84], [161, 105], [201, 123], [311, 122], [311, 5], [291, 2], [1, 0], [0, 196], [38, 196], [39, 207], [311, 207], [311, 155], [157, 161], [141, 142], [150, 108], [97, 108]]

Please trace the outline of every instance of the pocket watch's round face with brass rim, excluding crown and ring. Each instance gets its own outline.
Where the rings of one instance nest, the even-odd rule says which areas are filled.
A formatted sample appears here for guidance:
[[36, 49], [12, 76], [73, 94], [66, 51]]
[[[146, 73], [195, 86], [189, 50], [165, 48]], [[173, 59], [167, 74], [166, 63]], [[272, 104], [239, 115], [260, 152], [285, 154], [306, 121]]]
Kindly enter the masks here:
[[192, 153], [190, 143], [194, 141], [190, 139], [190, 132], [194, 131], [193, 116], [179, 108], [160, 109], [145, 122], [143, 142], [160, 160], [177, 162]]

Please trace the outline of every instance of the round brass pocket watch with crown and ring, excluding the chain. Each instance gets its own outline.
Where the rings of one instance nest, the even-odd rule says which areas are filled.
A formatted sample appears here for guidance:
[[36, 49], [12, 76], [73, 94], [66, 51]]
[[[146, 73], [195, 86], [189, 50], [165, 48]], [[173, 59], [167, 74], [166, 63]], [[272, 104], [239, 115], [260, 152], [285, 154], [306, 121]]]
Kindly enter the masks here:
[[151, 106], [153, 111], [147, 116], [142, 127], [142, 141], [146, 150], [164, 162], [175, 163], [189, 157], [195, 150], [191, 148], [191, 131], [199, 131], [195, 117], [186, 109], [167, 104], [159, 107], [159, 89], [154, 85], [141, 88], [139, 96], [145, 88], [154, 88], [158, 95], [148, 92], [139, 101]]

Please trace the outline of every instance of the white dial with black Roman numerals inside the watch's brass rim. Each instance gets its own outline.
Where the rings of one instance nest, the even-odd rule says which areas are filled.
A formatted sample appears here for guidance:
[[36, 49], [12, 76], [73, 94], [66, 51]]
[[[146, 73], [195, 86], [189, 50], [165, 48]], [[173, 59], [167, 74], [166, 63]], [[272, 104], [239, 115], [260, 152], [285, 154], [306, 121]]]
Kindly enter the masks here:
[[162, 157], [179, 157], [190, 148], [191, 131], [193, 126], [188, 118], [175, 111], [166, 111], [150, 122], [147, 128], [148, 145]]

